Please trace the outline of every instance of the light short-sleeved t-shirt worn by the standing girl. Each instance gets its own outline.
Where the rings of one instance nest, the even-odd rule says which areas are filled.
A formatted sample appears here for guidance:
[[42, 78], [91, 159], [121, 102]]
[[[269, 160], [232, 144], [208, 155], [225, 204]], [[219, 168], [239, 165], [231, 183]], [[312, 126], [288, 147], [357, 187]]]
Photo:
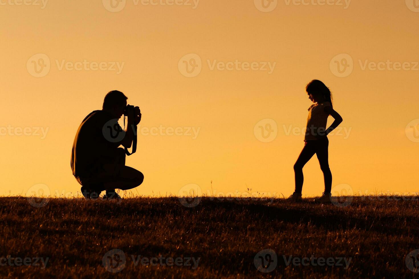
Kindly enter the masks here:
[[327, 118], [329, 114], [324, 111], [324, 108], [330, 106], [330, 102], [322, 102], [320, 104], [313, 104], [308, 108], [304, 141], [317, 140], [318, 136], [324, 136], [326, 134]]

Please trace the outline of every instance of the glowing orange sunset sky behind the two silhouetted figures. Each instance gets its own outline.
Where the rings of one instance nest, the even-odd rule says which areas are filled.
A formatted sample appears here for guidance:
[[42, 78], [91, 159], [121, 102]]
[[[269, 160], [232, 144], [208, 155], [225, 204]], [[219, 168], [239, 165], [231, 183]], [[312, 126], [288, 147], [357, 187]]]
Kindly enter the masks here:
[[[75, 132], [115, 89], [142, 110], [144, 133], [127, 158], [145, 175], [135, 195], [178, 194], [191, 183], [207, 193], [211, 180], [216, 193], [290, 195], [314, 78], [344, 119], [329, 136], [333, 187], [417, 191], [413, 0], [19, 3], [0, 0], [1, 195], [36, 184], [79, 191]], [[266, 123], [274, 131], [264, 139]], [[303, 195], [320, 195], [316, 157], [304, 174]]]

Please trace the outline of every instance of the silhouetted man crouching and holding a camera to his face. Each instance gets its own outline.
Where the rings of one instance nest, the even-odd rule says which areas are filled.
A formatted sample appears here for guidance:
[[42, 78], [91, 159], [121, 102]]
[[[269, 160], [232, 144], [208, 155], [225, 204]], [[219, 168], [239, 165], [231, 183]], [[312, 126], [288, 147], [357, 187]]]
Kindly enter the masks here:
[[[86, 199], [120, 199], [115, 189], [128, 190], [140, 186], [144, 175], [125, 166], [126, 152], [134, 139], [134, 126], [141, 121], [138, 107], [127, 110], [127, 97], [120, 91], [111, 91], [103, 100], [102, 110], [95, 110], [85, 117], [74, 139], [71, 167], [76, 180], [82, 185]], [[118, 124], [127, 114], [125, 131]]]

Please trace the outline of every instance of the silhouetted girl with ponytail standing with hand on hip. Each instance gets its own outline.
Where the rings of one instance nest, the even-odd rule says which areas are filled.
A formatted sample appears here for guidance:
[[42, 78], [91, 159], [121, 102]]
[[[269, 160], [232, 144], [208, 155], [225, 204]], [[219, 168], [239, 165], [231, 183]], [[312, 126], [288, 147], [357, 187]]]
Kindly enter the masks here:
[[[342, 118], [333, 109], [332, 93], [329, 88], [320, 80], [313, 79], [305, 88], [308, 98], [314, 102], [308, 108], [307, 130], [304, 138], [304, 147], [294, 164], [295, 172], [295, 191], [288, 198], [291, 201], [301, 201], [301, 191], [303, 189], [303, 166], [313, 157], [317, 155], [320, 168], [324, 175], [324, 192], [323, 195], [316, 199], [316, 202], [331, 202], [332, 173], [329, 169], [328, 162], [328, 145], [327, 135], [333, 131], [341, 122]], [[327, 118], [331, 115], [335, 120], [326, 129]]]

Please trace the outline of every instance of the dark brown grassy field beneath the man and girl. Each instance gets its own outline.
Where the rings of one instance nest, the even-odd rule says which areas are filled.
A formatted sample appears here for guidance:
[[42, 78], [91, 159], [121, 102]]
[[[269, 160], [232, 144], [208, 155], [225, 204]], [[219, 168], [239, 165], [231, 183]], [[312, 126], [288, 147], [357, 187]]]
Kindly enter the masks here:
[[0, 275], [413, 278], [417, 198], [351, 199], [339, 207], [204, 197], [185, 207], [176, 197], [1, 197]]

